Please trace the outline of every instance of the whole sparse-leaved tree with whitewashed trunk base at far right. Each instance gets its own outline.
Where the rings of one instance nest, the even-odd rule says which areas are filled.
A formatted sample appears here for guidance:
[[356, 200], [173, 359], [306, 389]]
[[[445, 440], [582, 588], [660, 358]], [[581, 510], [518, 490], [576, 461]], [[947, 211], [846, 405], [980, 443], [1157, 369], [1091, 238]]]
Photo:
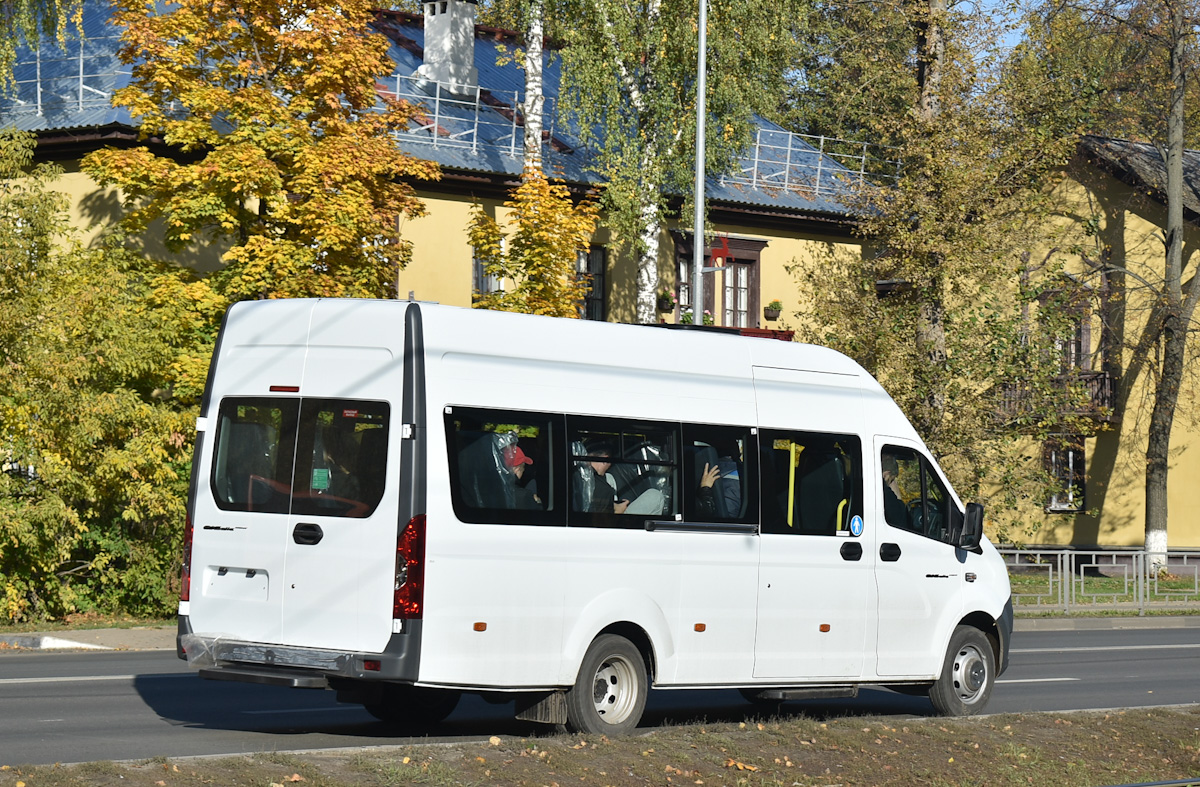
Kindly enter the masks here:
[[[1086, 272], [1103, 280], [1114, 296], [1105, 313], [1110, 358], [1128, 353], [1118, 377], [1118, 401], [1127, 402], [1144, 376], [1151, 409], [1146, 431], [1145, 549], [1152, 565], [1165, 564], [1168, 548], [1168, 476], [1171, 432], [1184, 389], [1189, 348], [1200, 302], [1200, 276], [1184, 250], [1184, 149], [1198, 138], [1196, 30], [1200, 5], [1190, 0], [1114, 0], [1094, 4], [1052, 2], [1037, 8], [1027, 56], [1060, 82], [1052, 90], [1074, 106], [1072, 84], [1085, 74], [1104, 97], [1088, 115], [1090, 131], [1150, 140], [1157, 150], [1159, 182], [1152, 188], [1165, 204], [1163, 262], [1158, 271], [1132, 271], [1100, 250]], [[1090, 62], [1063, 52], [1092, 49]], [[1051, 71], [1052, 70], [1052, 71]], [[1098, 217], [1097, 217], [1098, 218]], [[1085, 262], [1088, 257], [1084, 256]], [[1145, 322], [1132, 322], [1133, 295], [1150, 304]]]

